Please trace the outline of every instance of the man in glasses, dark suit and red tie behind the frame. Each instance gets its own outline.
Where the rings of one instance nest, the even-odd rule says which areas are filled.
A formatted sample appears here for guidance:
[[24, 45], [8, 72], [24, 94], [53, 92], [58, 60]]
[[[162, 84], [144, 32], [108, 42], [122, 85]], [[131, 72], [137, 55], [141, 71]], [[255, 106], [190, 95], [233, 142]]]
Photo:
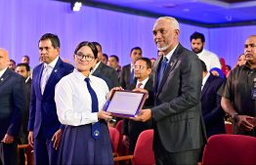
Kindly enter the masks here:
[[[137, 78], [137, 82], [127, 86], [127, 90], [134, 90], [135, 88], [143, 88], [149, 92], [149, 98], [146, 100], [143, 108], [150, 108], [153, 106], [152, 95], [152, 80], [149, 78], [151, 72], [151, 62], [148, 58], [140, 58], [134, 65], [134, 75]], [[152, 129], [152, 120], [149, 119], [146, 122], [134, 121], [131, 119], [123, 119], [123, 144], [129, 145], [129, 154], [134, 153], [135, 145], [139, 135], [148, 129]]]

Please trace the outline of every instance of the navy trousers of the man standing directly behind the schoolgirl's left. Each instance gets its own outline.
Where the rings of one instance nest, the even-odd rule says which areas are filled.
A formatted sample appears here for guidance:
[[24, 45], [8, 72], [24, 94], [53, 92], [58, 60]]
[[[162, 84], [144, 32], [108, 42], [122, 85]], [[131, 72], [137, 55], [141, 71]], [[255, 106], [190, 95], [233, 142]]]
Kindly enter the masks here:
[[36, 165], [57, 164], [58, 150], [54, 148], [54, 142], [43, 135], [42, 126], [34, 139], [34, 162]]

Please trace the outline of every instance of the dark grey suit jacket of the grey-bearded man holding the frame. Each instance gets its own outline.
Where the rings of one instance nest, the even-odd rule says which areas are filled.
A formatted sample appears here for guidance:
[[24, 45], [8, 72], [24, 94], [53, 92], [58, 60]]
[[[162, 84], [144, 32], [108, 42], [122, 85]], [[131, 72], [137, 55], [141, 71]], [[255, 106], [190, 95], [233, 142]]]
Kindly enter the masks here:
[[[163, 56], [154, 62], [152, 74], [154, 142], [158, 134], [161, 144], [169, 152], [200, 148], [207, 142], [200, 104], [201, 64], [195, 54], [179, 43], [157, 89], [162, 59]], [[153, 147], [157, 146], [153, 144]]]

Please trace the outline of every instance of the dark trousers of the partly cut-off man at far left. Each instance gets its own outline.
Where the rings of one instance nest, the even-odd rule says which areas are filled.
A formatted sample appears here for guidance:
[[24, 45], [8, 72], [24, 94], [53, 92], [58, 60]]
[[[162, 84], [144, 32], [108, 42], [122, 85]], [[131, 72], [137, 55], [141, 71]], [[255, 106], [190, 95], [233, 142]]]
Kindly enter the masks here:
[[[1, 140], [2, 141], [2, 140]], [[17, 164], [18, 165], [18, 142], [14, 141], [13, 144], [0, 143], [0, 165], [4, 164]]]

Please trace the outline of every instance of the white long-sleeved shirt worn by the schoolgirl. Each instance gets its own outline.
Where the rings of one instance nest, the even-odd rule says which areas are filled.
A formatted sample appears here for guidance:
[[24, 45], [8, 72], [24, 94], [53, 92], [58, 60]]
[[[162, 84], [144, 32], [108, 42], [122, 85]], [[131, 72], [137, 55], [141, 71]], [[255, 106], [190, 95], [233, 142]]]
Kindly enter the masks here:
[[[92, 112], [92, 99], [87, 89], [86, 77], [74, 71], [62, 78], [55, 88], [55, 102], [57, 114], [62, 124], [79, 126], [98, 121], [97, 112]], [[93, 75], [89, 75], [90, 85], [95, 91], [99, 110], [103, 110], [107, 103], [108, 87], [106, 82]]]

